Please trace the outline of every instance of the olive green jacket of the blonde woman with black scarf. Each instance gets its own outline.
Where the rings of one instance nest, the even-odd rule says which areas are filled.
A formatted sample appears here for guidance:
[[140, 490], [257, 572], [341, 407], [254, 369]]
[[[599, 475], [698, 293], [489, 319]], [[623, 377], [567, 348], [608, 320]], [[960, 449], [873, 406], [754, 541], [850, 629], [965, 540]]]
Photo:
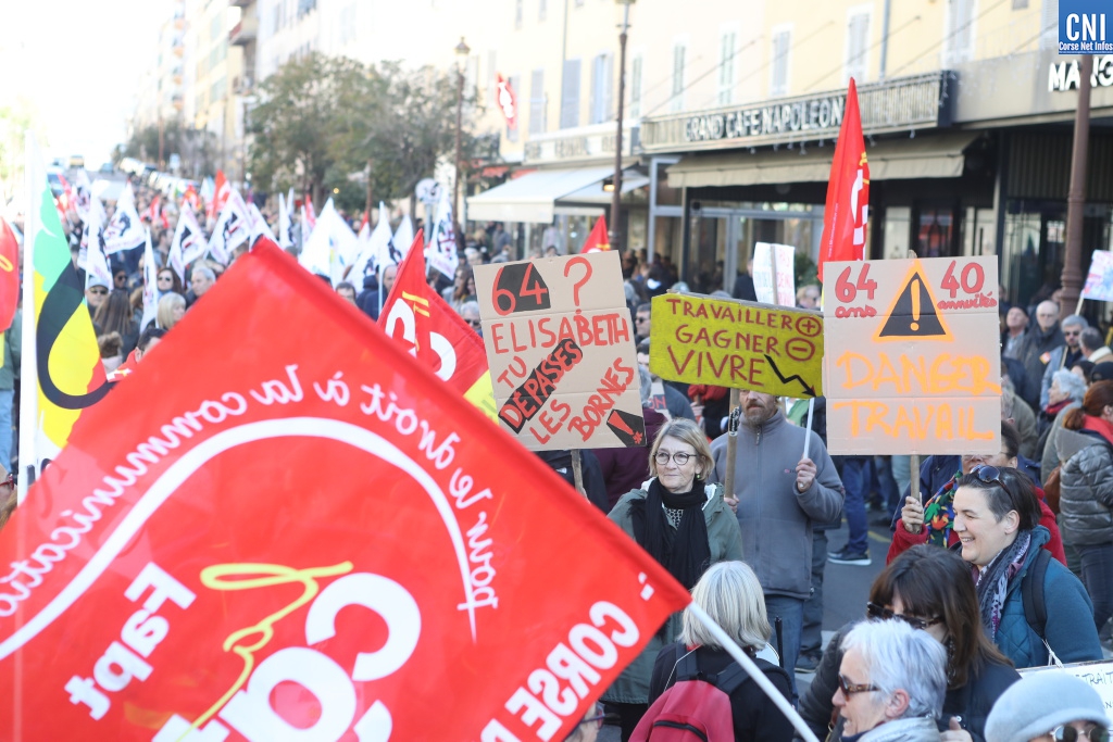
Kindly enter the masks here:
[[[703, 521], [707, 523], [707, 541], [711, 547], [711, 564], [739, 561], [742, 558], [742, 532], [738, 527], [738, 518], [730, 506], [722, 502], [722, 486], [707, 485], [708, 501], [703, 506]], [[633, 538], [633, 518], [630, 515], [630, 503], [646, 499], [644, 489], [634, 489], [622, 495], [622, 498], [611, 509], [609, 517], [627, 535]], [[680, 613], [673, 613], [666, 623], [666, 630], [658, 632], [650, 640], [630, 665], [622, 671], [603, 694], [603, 701], [611, 703], [649, 703], [649, 680], [653, 674], [653, 662], [657, 653], [666, 644], [677, 641], [680, 635]]]

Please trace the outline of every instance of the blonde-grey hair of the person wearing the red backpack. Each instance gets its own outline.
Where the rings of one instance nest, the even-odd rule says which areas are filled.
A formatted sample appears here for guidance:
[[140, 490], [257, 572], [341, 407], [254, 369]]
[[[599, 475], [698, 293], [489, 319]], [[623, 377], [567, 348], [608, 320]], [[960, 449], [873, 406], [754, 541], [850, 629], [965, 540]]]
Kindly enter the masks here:
[[[692, 587], [692, 602], [707, 611], [742, 649], [765, 649], [771, 633], [765, 597], [758, 576], [745, 562], [719, 562], [711, 566]], [[722, 643], [691, 611], [684, 611], [680, 641], [688, 646], [722, 649]]]

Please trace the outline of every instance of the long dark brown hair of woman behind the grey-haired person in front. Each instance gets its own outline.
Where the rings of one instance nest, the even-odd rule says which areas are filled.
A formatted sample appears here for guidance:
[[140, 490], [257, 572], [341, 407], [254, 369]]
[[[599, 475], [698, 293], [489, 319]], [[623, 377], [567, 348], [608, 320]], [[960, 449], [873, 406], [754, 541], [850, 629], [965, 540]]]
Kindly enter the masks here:
[[949, 687], [966, 685], [986, 662], [1012, 664], [986, 636], [969, 567], [954, 552], [917, 544], [893, 560], [869, 587], [869, 602], [892, 605], [897, 595], [907, 615], [943, 619]]

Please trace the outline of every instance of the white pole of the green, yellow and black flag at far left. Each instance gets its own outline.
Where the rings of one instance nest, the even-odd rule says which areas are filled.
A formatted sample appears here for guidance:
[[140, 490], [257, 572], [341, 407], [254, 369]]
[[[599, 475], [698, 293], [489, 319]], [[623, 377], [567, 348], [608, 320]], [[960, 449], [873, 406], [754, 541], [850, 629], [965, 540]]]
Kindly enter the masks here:
[[38, 474], [38, 452], [35, 449], [39, 428], [39, 355], [35, 328], [38, 306], [35, 301], [35, 239], [39, 234], [39, 209], [42, 204], [43, 184], [36, 184], [41, 160], [35, 135], [27, 138], [24, 172], [27, 178], [28, 209], [23, 225], [23, 343], [20, 358], [19, 395], [19, 468], [17, 499], [22, 504], [27, 491]]

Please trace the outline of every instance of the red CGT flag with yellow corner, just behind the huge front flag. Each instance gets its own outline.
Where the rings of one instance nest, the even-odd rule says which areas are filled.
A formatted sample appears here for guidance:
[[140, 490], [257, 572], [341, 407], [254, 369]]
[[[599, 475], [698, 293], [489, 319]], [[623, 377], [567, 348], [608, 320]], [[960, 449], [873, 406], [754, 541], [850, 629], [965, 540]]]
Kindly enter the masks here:
[[424, 230], [398, 266], [378, 326], [492, 421], [498, 419], [483, 339], [425, 283]]

